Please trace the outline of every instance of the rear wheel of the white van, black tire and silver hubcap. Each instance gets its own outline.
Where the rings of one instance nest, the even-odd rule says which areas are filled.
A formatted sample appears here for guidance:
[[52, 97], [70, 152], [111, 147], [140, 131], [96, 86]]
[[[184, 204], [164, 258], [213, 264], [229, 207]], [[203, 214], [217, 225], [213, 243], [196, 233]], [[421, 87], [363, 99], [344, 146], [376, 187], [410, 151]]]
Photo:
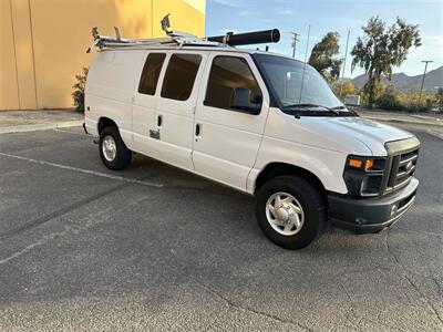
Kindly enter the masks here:
[[124, 169], [131, 163], [132, 152], [124, 144], [116, 126], [100, 132], [99, 151], [104, 166], [110, 169]]

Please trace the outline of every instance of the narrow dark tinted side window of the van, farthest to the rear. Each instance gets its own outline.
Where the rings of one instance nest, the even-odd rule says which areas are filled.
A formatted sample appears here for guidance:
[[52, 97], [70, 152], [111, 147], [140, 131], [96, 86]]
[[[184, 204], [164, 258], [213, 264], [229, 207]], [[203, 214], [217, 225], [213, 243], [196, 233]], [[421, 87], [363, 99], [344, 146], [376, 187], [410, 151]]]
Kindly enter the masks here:
[[162, 71], [165, 53], [150, 53], [143, 66], [138, 83], [138, 93], [154, 95], [157, 87], [159, 72]]

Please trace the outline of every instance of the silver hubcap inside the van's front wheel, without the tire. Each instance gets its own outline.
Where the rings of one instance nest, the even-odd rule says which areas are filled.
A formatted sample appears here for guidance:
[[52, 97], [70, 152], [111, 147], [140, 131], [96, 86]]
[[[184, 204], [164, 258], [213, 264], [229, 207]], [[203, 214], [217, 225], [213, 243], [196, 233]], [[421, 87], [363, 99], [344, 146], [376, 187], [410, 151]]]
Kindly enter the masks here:
[[269, 197], [266, 204], [266, 217], [269, 225], [285, 236], [299, 232], [305, 222], [300, 203], [287, 193], [276, 193]]

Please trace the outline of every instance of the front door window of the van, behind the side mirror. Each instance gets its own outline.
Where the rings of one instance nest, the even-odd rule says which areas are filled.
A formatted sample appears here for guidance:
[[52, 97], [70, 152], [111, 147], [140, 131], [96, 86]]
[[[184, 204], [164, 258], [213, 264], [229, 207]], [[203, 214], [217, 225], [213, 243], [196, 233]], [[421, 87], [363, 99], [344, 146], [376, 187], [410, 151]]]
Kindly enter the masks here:
[[210, 68], [205, 105], [258, 114], [262, 95], [244, 58], [216, 56]]

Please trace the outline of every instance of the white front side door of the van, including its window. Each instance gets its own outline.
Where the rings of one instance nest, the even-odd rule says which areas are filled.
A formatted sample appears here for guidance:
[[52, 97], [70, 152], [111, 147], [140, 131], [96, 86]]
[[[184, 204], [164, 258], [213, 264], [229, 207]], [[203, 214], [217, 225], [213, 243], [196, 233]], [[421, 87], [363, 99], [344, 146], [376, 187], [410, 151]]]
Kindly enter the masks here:
[[[265, 131], [269, 95], [248, 54], [210, 53], [196, 106], [195, 170], [246, 190]], [[206, 86], [205, 86], [206, 85]]]

